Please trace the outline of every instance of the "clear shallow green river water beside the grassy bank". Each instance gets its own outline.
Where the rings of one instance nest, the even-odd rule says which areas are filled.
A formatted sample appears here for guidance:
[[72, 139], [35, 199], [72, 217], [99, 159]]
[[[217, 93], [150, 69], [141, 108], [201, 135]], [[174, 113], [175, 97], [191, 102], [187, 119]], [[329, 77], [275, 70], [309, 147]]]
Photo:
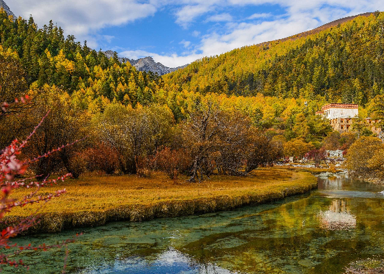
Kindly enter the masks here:
[[[67, 273], [76, 274], [335, 274], [355, 260], [384, 258], [384, 186], [342, 177], [319, 182], [311, 194], [262, 206], [18, 241], [51, 245], [84, 232], [69, 245]], [[61, 273], [64, 251], [34, 251], [23, 260], [29, 273]]]

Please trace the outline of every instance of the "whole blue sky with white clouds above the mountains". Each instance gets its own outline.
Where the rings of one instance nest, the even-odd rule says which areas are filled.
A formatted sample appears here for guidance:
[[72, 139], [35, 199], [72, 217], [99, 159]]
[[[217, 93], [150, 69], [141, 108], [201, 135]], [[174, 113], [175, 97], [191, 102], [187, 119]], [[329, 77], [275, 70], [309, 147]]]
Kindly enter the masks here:
[[383, 0], [5, 0], [16, 16], [120, 57], [176, 67], [384, 10]]

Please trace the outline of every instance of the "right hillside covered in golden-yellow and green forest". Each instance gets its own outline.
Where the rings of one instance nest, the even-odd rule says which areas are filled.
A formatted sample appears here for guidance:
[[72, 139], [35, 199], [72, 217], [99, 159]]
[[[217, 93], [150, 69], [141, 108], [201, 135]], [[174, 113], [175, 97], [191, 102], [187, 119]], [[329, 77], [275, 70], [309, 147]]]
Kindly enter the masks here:
[[202, 58], [165, 76], [167, 84], [227, 95], [365, 105], [384, 88], [384, 14], [359, 16], [317, 34]]

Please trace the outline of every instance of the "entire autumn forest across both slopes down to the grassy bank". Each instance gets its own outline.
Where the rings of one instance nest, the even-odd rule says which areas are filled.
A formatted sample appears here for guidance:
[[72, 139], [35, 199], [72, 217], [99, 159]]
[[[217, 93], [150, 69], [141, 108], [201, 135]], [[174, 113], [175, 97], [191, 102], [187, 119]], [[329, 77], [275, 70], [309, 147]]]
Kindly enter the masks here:
[[[82, 142], [34, 163], [35, 175], [160, 170], [193, 182], [348, 149], [355, 134], [333, 133], [315, 112], [327, 101], [355, 101], [361, 118], [381, 119], [383, 27], [383, 14], [358, 17], [158, 77], [64, 38], [52, 22], [38, 28], [32, 17], [0, 12], [0, 146], [26, 138], [49, 112], [25, 157]], [[363, 124], [355, 130], [372, 135]]]

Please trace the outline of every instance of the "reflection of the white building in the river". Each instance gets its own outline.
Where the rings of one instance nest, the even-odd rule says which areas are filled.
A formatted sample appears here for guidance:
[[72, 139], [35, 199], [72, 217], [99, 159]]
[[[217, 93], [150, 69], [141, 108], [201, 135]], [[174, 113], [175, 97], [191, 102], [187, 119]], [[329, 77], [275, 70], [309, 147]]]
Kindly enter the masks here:
[[341, 199], [333, 199], [329, 210], [320, 211], [320, 227], [329, 230], [353, 229], [356, 227], [356, 216], [350, 214], [347, 202]]

